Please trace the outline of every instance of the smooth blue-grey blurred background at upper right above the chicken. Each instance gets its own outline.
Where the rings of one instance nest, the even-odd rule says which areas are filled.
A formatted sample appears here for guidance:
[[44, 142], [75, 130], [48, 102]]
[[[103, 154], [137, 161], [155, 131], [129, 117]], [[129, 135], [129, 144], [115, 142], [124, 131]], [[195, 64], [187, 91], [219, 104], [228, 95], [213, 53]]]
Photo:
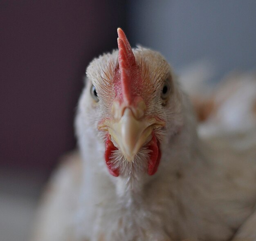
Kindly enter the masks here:
[[210, 60], [218, 78], [256, 67], [256, 1], [133, 0], [132, 43], [157, 49], [180, 69]]

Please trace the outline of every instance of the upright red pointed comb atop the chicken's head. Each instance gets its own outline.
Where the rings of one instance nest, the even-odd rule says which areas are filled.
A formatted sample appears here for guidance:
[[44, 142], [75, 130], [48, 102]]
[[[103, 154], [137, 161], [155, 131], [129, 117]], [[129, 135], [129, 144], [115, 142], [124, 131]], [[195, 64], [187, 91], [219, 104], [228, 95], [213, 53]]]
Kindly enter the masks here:
[[128, 42], [124, 31], [120, 28], [117, 29], [118, 38], [118, 63], [121, 72], [121, 88], [124, 100], [128, 103], [131, 102], [131, 77], [132, 71], [136, 66], [135, 56], [132, 52], [130, 43]]

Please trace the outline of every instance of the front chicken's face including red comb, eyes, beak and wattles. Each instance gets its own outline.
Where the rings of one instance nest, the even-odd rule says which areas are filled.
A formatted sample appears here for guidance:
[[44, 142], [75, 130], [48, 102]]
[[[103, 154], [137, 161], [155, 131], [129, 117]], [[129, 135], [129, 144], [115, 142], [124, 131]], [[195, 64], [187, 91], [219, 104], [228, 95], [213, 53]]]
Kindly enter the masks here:
[[[124, 32], [117, 32], [118, 51], [90, 63], [86, 94], [90, 93], [88, 101], [97, 115], [97, 136], [104, 139], [110, 174], [139, 170], [153, 175], [168, 131], [166, 121], [176, 112], [170, 104], [173, 76], [159, 53], [141, 47], [132, 50]], [[171, 129], [177, 129], [175, 123]]]

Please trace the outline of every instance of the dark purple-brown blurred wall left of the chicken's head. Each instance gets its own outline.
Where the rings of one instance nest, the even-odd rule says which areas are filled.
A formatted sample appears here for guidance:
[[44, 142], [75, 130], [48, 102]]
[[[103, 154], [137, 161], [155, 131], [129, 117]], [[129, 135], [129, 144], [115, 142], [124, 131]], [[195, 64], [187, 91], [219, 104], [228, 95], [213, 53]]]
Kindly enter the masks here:
[[74, 149], [85, 68], [125, 16], [124, 1], [1, 1], [0, 168], [49, 170]]

